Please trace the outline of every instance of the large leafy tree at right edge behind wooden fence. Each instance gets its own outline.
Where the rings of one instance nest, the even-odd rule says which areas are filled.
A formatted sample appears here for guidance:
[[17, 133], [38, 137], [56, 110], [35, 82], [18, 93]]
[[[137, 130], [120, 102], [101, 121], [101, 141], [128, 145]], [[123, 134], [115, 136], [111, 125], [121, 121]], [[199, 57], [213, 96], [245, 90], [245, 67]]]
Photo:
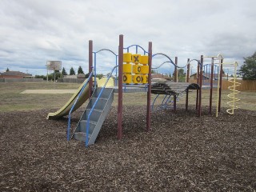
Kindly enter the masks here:
[[244, 59], [244, 64], [240, 68], [242, 79], [256, 80], [256, 52], [252, 56]]

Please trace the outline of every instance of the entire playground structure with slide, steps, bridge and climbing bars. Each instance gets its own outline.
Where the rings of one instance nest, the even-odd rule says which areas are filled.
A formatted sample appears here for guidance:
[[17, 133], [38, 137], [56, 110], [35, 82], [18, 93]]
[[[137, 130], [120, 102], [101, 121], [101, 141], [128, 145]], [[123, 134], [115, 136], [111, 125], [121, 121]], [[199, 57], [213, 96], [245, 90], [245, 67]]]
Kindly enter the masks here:
[[[130, 49], [134, 47], [135, 53], [130, 53]], [[138, 54], [138, 49], [142, 50], [143, 54]], [[124, 50], [126, 51], [124, 53]], [[94, 83], [98, 82], [96, 78], [97, 74], [97, 54], [102, 51], [108, 51], [114, 54], [115, 57], [115, 66], [108, 74], [108, 77], [104, 80], [104, 83]], [[152, 59], [155, 56], [161, 56], [166, 58], [167, 61], [163, 62], [162, 65], [169, 63], [174, 65], [174, 82], [169, 84], [158, 82], [157, 84], [151, 85], [151, 69], [152, 69]], [[94, 58], [94, 59], [93, 59]], [[203, 85], [202, 74], [203, 74], [203, 62], [204, 58], [211, 58], [210, 64], [210, 85]], [[162, 101], [163, 106], [168, 106], [168, 102], [172, 102], [173, 109], [176, 111], [177, 98], [181, 93], [186, 93], [186, 110], [188, 110], [188, 98], [189, 90], [196, 90], [196, 110], [198, 111], [198, 116], [202, 115], [202, 89], [210, 89], [210, 111], [212, 113], [212, 100], [213, 100], [213, 89], [214, 89], [214, 65], [217, 67], [214, 61], [218, 61], [218, 103], [216, 107], [216, 116], [221, 109], [221, 95], [222, 95], [222, 71], [223, 58], [219, 54], [213, 57], [204, 57], [201, 55], [200, 60], [198, 59], [188, 59], [185, 66], [178, 66], [178, 58], [175, 57], [174, 62], [172, 59], [162, 53], [152, 54], [152, 42], [148, 44], [148, 50], [142, 48], [142, 46], [131, 45], [124, 47], [123, 46], [123, 35], [119, 35], [119, 46], [118, 54], [115, 54], [114, 51], [108, 49], [102, 49], [98, 51], [93, 51], [93, 42], [89, 41], [89, 78], [80, 86], [78, 92], [66, 103], [66, 106], [61, 110], [58, 110], [56, 113], [48, 115], [48, 118], [59, 118], [66, 114], [69, 114], [68, 128], [67, 128], [67, 140], [74, 138], [86, 143], [86, 146], [94, 144], [98, 133], [102, 127], [102, 124], [106, 118], [106, 115], [110, 111], [111, 104], [114, 100], [114, 93], [118, 93], [118, 139], [122, 138], [122, 93], [134, 93], [134, 92], [146, 92], [147, 101], [146, 101], [146, 131], [150, 131], [150, 110], [151, 110], [151, 94], [157, 94], [155, 100], [158, 98], [159, 94], [165, 94], [166, 97]], [[197, 83], [189, 83], [189, 74], [190, 74], [190, 63], [197, 62]], [[230, 65], [230, 63], [226, 63]], [[234, 67], [237, 66], [237, 63]], [[186, 67], [186, 82], [178, 82], [178, 68]], [[208, 67], [208, 66], [207, 66]], [[235, 68], [236, 69], [236, 68]], [[115, 83], [110, 83], [113, 81], [111, 78], [112, 74], [115, 72]], [[93, 78], [94, 75], [94, 78]], [[118, 78], [119, 77], [119, 78]], [[121, 78], [122, 77], [122, 78]], [[238, 101], [235, 98], [235, 94], [238, 94], [238, 91], [235, 90], [235, 87], [238, 86], [238, 83], [235, 82], [236, 76], [232, 81], [234, 85], [230, 87], [233, 90], [233, 94], [230, 94], [230, 98], [233, 99], [231, 103], [231, 109], [228, 110], [230, 114], [234, 114], [234, 109], [237, 109], [235, 102]], [[111, 79], [111, 80], [110, 80]], [[108, 86], [107, 86], [108, 85]], [[113, 85], [113, 86], [111, 86]], [[115, 85], [115, 86], [114, 86]], [[78, 125], [76, 126], [74, 133], [70, 136], [70, 121], [71, 114], [74, 110], [78, 109], [81, 106], [82, 102], [89, 98], [90, 101], [84, 110]], [[154, 106], [154, 102], [152, 107]], [[63, 112], [63, 110], [65, 110]], [[68, 112], [68, 113], [67, 113]]]

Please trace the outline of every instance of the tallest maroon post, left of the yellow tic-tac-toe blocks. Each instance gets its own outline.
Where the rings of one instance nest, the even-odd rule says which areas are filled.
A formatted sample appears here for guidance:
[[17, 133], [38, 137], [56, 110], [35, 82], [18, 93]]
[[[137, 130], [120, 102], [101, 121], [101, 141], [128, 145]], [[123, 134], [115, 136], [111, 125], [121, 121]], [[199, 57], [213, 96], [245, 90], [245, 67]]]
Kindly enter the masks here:
[[122, 139], [122, 62], [123, 35], [119, 35], [118, 46], [118, 139]]

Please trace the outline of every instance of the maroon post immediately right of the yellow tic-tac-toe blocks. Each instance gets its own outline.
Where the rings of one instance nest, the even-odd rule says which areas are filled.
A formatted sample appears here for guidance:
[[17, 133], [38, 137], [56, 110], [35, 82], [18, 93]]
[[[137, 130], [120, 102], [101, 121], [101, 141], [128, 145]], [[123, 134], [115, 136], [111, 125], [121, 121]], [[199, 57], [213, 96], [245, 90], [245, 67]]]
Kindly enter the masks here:
[[146, 105], [146, 131], [150, 131], [151, 122], [151, 67], [152, 67], [152, 42], [149, 42], [149, 76], [148, 76], [148, 87], [147, 87], [147, 105]]

